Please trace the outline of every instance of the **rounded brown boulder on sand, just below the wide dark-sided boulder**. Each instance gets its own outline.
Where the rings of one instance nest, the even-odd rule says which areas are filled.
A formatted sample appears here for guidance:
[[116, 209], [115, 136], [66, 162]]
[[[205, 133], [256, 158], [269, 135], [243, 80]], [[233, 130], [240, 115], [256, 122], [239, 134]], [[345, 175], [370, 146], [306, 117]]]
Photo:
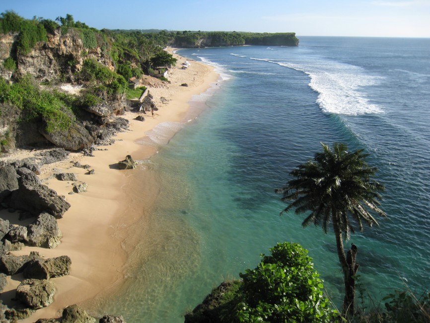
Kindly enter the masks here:
[[54, 301], [55, 287], [47, 279], [24, 279], [16, 288], [15, 298], [32, 309], [41, 309]]

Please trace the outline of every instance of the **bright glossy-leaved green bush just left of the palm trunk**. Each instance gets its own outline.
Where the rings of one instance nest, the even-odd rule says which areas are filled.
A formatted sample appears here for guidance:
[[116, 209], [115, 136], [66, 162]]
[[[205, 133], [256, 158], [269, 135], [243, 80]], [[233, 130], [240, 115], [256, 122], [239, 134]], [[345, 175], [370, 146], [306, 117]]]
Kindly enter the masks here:
[[240, 274], [244, 302], [240, 322], [332, 322], [338, 313], [323, 296], [323, 282], [307, 250], [278, 243], [255, 269]]

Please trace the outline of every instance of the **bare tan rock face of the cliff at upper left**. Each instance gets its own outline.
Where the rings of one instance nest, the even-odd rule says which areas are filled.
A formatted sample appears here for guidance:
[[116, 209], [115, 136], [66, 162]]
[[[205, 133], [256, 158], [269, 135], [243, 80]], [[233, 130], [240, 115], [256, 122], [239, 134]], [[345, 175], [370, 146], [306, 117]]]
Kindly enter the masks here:
[[[79, 71], [87, 58], [94, 58], [98, 62], [114, 70], [114, 63], [109, 55], [105, 55], [100, 47], [86, 49], [79, 34], [70, 29], [62, 35], [57, 29], [54, 34], [48, 34], [47, 42], [39, 42], [27, 55], [16, 51], [17, 34], [0, 35], [0, 60], [9, 56], [17, 63], [18, 75], [30, 74], [36, 81], [50, 82], [65, 76], [73, 81], [73, 73]], [[2, 71], [1, 76], [9, 80], [12, 73]]]

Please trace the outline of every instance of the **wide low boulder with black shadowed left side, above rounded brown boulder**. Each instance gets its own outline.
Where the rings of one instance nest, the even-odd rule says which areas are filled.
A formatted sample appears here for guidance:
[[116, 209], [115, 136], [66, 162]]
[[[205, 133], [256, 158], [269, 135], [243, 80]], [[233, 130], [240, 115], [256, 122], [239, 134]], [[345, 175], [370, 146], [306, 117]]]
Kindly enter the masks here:
[[70, 274], [72, 260], [69, 256], [49, 259], [34, 259], [27, 263], [23, 271], [24, 278], [50, 279]]

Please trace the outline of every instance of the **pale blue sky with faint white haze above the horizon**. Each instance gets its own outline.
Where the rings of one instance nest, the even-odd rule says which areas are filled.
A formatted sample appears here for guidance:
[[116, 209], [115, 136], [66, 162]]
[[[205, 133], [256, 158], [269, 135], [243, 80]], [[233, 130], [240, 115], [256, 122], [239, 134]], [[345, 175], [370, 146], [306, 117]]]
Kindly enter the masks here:
[[97, 29], [295, 32], [297, 36], [430, 37], [430, 0], [0, 0], [0, 12]]

